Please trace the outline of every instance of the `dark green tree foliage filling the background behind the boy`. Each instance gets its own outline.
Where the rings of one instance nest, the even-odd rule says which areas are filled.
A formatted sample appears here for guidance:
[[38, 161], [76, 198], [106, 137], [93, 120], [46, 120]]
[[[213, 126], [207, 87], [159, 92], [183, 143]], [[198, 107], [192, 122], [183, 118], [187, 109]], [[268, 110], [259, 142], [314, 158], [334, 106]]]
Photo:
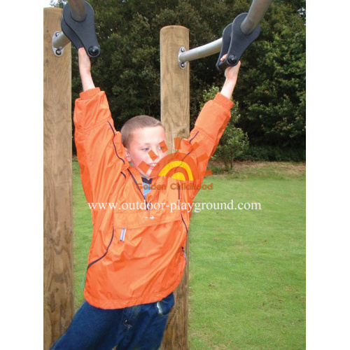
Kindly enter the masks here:
[[[56, 6], [62, 6], [62, 0]], [[89, 0], [102, 53], [92, 65], [95, 85], [106, 91], [117, 129], [132, 116], [160, 118], [160, 29], [190, 29], [190, 48], [220, 38], [223, 29], [247, 12], [250, 0]], [[61, 4], [61, 5], [59, 5]], [[305, 1], [274, 0], [259, 38], [241, 59], [235, 90], [238, 126], [251, 144], [304, 147]], [[73, 50], [73, 97], [81, 85]], [[218, 55], [190, 62], [190, 125], [203, 91], [223, 84]], [[181, 87], [179, 87], [181, 88]]]

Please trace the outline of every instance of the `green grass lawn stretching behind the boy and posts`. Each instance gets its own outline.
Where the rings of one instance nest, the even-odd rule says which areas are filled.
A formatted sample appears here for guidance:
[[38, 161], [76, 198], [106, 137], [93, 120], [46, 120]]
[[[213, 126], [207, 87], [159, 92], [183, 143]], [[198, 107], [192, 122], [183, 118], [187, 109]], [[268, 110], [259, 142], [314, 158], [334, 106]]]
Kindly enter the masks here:
[[[305, 348], [305, 165], [237, 163], [208, 176], [190, 226], [191, 350]], [[259, 209], [239, 210], [260, 203]], [[210, 208], [210, 205], [208, 206]], [[76, 307], [83, 301], [91, 217], [73, 162]], [[174, 349], [177, 350], [177, 349]]]

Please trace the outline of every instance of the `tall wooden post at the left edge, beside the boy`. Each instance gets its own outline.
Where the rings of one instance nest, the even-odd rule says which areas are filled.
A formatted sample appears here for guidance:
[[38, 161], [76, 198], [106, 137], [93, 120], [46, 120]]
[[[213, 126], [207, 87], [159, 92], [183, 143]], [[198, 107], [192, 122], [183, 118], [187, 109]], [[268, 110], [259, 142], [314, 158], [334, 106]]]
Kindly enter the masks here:
[[71, 200], [71, 44], [61, 57], [51, 49], [61, 8], [44, 8], [44, 349], [66, 330], [74, 314]]

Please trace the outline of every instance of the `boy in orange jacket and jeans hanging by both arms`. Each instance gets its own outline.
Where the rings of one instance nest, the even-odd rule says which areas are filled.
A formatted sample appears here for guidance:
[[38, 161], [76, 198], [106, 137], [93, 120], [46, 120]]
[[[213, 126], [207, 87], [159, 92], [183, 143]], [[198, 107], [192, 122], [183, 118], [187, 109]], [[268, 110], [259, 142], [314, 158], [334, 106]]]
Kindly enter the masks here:
[[83, 92], [73, 120], [81, 181], [87, 202], [114, 207], [92, 209], [86, 301], [52, 349], [157, 350], [186, 265], [188, 208], [230, 119], [240, 63], [226, 69], [221, 93], [205, 104], [190, 138], [181, 140], [183, 162], [197, 174], [193, 186], [181, 188], [180, 180], [154, 171], [166, 157], [159, 120], [137, 116], [116, 132], [83, 48], [78, 56]]

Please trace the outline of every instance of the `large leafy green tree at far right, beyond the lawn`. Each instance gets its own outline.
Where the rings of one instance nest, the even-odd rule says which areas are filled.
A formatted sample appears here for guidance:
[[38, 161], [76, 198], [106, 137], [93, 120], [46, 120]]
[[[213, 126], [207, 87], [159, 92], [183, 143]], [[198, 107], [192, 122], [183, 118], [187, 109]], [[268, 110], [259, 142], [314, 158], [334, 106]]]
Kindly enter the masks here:
[[[261, 38], [244, 57], [235, 94], [241, 102], [239, 126], [251, 144], [305, 146], [305, 26], [283, 3], [272, 3]], [[249, 67], [246, 69], [246, 67]]]

